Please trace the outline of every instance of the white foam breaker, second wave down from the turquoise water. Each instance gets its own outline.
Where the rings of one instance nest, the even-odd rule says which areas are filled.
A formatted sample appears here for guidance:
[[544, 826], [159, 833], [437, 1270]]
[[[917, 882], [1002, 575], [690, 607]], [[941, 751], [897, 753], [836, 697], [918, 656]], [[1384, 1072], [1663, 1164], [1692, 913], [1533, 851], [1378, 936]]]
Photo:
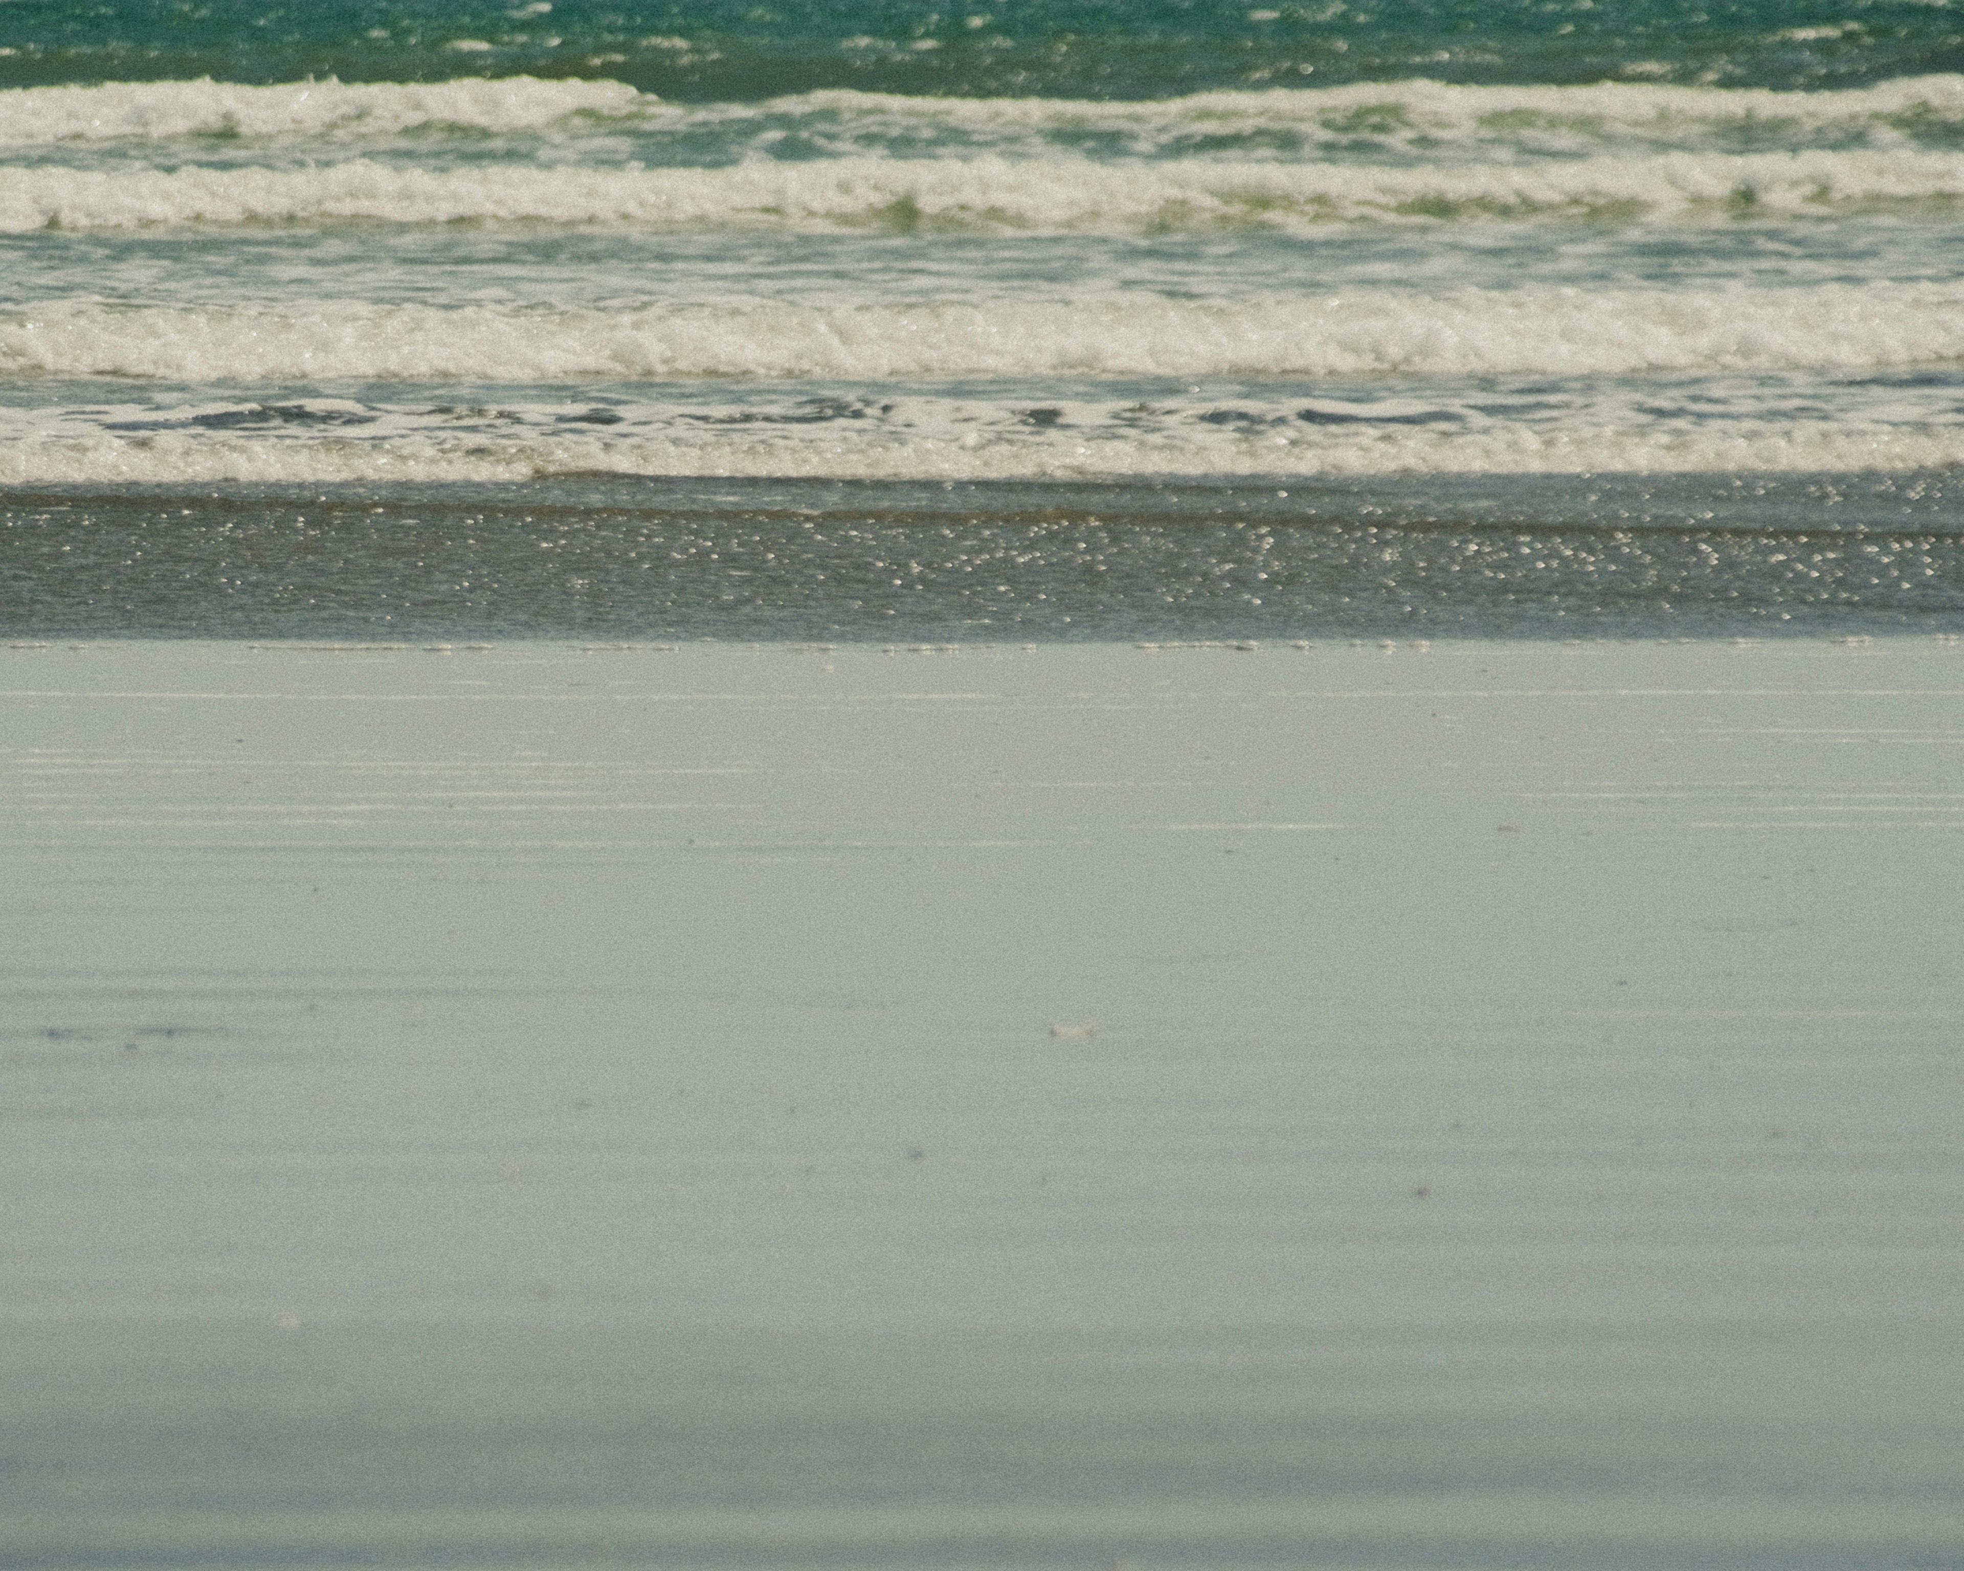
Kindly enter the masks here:
[[1834, 216], [1964, 200], [1964, 153], [1673, 153], [1385, 169], [1086, 159], [752, 161], [727, 169], [6, 169], [0, 232], [157, 224], [544, 222], [1153, 234], [1341, 222]]

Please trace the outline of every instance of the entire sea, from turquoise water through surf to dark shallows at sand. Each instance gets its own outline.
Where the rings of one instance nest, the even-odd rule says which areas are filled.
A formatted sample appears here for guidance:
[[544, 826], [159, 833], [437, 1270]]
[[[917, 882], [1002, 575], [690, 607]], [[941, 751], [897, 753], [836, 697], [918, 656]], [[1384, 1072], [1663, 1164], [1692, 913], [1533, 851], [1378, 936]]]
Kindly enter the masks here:
[[[1954, 626], [1960, 39], [1840, 0], [8, 0], [0, 611]], [[1072, 591], [1104, 554], [1127, 591]]]

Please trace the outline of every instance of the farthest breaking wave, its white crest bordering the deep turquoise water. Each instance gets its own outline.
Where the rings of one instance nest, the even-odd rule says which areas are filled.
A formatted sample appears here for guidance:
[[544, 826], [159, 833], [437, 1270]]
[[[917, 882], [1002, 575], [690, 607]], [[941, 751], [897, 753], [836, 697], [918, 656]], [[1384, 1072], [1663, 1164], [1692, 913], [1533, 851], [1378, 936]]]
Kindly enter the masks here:
[[587, 135], [721, 132], [768, 151], [795, 132], [833, 155], [941, 145], [1029, 153], [1059, 143], [1108, 155], [1371, 155], [1426, 161], [1495, 153], [1889, 151], [1964, 139], [1964, 77], [1866, 88], [1595, 82], [1463, 86], [1432, 81], [1200, 92], [1171, 100], [947, 98], [803, 92], [748, 104], [670, 104], [611, 81], [534, 77], [448, 82], [104, 82], [0, 92], [0, 147], [179, 139], [359, 143], [409, 132]]

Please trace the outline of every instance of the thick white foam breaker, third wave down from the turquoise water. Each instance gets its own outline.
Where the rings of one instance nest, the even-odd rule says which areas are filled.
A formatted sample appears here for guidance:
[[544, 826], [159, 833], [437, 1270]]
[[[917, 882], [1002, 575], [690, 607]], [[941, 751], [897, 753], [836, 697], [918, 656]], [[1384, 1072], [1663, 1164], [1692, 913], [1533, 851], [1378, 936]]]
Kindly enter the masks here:
[[685, 377], [1618, 375], [1964, 357], [1964, 281], [1713, 291], [1106, 295], [630, 310], [47, 302], [0, 312], [0, 375], [214, 383]]

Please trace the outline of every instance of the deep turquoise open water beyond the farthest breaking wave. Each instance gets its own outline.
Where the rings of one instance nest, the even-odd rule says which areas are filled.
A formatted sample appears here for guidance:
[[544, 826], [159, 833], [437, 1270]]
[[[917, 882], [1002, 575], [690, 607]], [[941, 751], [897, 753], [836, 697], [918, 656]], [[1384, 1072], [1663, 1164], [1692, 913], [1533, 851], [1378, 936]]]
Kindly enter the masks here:
[[102, 4], [10, 0], [0, 84], [212, 75], [613, 77], [683, 100], [813, 88], [964, 98], [1180, 92], [1430, 77], [1860, 86], [1964, 67], [1923, 0], [1009, 0], [1009, 4]]

